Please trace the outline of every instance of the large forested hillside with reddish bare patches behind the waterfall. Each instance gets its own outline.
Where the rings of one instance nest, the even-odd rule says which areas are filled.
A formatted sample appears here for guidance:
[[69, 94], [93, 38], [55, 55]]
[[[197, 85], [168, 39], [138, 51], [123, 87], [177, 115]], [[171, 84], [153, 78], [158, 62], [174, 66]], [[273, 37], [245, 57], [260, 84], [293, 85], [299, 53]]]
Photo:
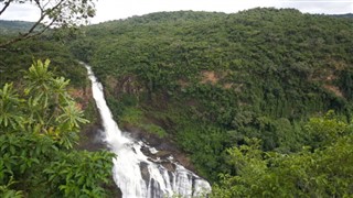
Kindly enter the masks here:
[[[105, 31], [101, 31], [105, 30]], [[311, 117], [352, 117], [352, 19], [253, 9], [165, 12], [90, 25], [72, 43], [107, 87], [120, 125], [173, 140], [212, 182], [227, 150], [317, 148]]]

